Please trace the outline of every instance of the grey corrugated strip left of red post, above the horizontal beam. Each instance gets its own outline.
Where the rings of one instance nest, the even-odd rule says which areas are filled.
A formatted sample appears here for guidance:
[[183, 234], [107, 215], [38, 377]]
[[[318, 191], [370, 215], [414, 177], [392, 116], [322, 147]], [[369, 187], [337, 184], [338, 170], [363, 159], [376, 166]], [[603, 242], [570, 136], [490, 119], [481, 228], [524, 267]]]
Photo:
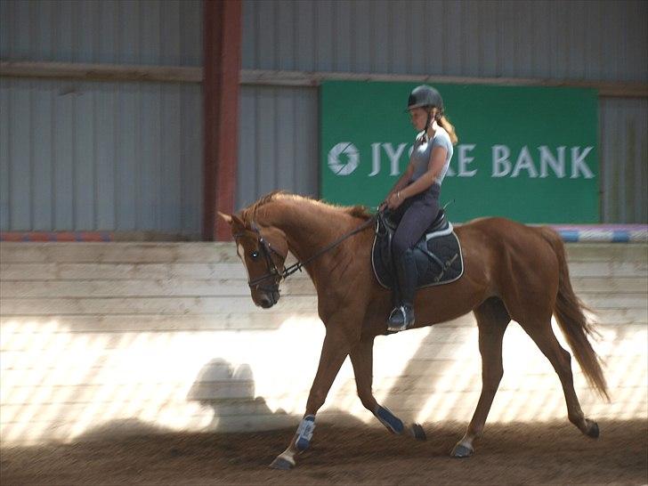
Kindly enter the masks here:
[[2, 0], [12, 61], [202, 65], [201, 0]]

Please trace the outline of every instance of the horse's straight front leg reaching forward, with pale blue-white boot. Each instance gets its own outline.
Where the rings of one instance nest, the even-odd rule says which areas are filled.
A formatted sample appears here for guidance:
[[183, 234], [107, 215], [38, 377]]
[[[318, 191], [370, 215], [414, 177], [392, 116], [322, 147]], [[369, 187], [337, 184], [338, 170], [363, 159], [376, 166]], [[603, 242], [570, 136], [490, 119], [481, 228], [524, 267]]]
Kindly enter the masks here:
[[349, 339], [336, 329], [327, 329], [322, 345], [320, 365], [317, 374], [312, 382], [311, 392], [306, 402], [306, 411], [304, 417], [297, 427], [288, 449], [284, 450], [275, 458], [271, 467], [274, 469], [290, 469], [296, 466], [296, 456], [308, 449], [312, 439], [312, 431], [315, 428], [315, 414], [324, 404], [328, 390], [336, 379], [337, 372], [342, 367], [351, 349]]

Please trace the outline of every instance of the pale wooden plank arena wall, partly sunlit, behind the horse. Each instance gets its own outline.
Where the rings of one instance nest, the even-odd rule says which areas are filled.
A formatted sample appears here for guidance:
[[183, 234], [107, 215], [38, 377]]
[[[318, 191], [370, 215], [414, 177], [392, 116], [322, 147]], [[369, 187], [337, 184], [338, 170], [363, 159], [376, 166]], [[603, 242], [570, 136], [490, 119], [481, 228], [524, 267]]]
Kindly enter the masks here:
[[[595, 396], [574, 362], [583, 409], [603, 420], [648, 417], [648, 246], [568, 252], [577, 293], [597, 312], [595, 349], [612, 396]], [[305, 273], [262, 311], [231, 244], [2, 243], [0, 259], [3, 444], [252, 431], [301, 417], [324, 336]], [[516, 323], [504, 354], [490, 422], [566, 420], [558, 378]], [[381, 336], [374, 391], [403, 418], [467, 423], [480, 363], [472, 315]], [[319, 419], [379, 426], [355, 394], [348, 360]]]

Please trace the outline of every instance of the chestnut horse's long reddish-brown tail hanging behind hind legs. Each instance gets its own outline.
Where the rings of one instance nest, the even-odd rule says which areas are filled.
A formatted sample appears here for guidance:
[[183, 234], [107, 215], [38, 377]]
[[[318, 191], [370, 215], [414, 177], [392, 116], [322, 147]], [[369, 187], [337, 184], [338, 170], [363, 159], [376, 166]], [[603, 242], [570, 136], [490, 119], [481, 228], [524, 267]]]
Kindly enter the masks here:
[[555, 300], [554, 314], [558, 325], [570, 344], [571, 351], [579, 361], [580, 369], [585, 373], [587, 381], [603, 398], [610, 401], [607, 384], [603, 376], [600, 358], [592, 348], [587, 336], [598, 336], [591, 322], [587, 322], [585, 313], [587, 306], [574, 294], [571, 288], [570, 271], [565, 258], [563, 239], [551, 228], [541, 229], [544, 239], [554, 247], [558, 257], [558, 296]]

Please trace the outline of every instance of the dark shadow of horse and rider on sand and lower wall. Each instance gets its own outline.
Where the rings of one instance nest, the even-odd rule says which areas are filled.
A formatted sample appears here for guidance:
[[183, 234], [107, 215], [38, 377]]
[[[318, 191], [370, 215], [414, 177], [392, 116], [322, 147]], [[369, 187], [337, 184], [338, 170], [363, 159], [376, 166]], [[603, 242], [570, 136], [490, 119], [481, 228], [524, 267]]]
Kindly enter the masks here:
[[[232, 366], [221, 358], [208, 361], [200, 369], [187, 393], [187, 401], [212, 409], [212, 420], [201, 431], [178, 432], [139, 418], [128, 418], [88, 430], [77, 441], [109, 441], [113, 447], [125, 449], [140, 443], [147, 449], [155, 441], [164, 444], [158, 453], [169, 458], [190, 456], [202, 450], [205, 454], [230, 458], [232, 466], [265, 467], [285, 449], [301, 419], [301, 415], [283, 409], [272, 410], [263, 397], [255, 396], [255, 380], [249, 365]], [[443, 447], [430, 448], [425, 447], [425, 442], [409, 441], [389, 433], [381, 425], [365, 424], [342, 409], [329, 408], [319, 417], [311, 448], [304, 457], [310, 457], [313, 465], [326, 466], [330, 461], [353, 464], [357, 458], [352, 450], [356, 449], [364, 454], [385, 454], [392, 458], [447, 456], [458, 430], [457, 426], [453, 433], [444, 434]], [[254, 447], [245, 447], [250, 441], [255, 442]]]

